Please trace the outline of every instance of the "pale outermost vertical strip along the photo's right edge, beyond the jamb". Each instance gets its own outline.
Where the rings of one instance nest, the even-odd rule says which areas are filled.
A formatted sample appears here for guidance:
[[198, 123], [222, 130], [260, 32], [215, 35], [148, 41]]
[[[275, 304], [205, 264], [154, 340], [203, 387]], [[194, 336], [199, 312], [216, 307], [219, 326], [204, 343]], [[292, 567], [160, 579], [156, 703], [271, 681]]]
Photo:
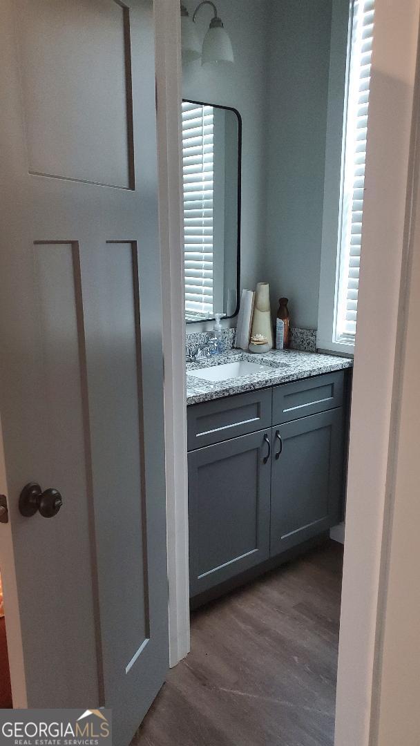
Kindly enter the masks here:
[[418, 746], [420, 733], [420, 69], [413, 118], [413, 200], [401, 286], [401, 371], [395, 397], [389, 469], [389, 530], [383, 542], [372, 746]]

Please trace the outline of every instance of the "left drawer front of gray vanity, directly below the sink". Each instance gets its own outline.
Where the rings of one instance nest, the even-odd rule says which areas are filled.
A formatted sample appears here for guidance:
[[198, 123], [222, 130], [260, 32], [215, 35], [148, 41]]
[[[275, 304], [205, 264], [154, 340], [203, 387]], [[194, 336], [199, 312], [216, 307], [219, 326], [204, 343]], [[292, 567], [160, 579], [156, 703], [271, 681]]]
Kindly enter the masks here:
[[188, 450], [272, 425], [272, 389], [251, 391], [187, 408]]

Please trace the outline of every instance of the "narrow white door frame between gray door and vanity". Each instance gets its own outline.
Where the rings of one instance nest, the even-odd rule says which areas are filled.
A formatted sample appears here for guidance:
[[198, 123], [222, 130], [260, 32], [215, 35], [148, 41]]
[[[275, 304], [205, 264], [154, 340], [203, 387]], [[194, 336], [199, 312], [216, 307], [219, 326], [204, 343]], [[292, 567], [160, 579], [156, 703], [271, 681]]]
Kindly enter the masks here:
[[187, 398], [181, 154], [181, 15], [178, 0], [154, 0], [157, 147], [163, 289], [169, 661], [189, 652]]

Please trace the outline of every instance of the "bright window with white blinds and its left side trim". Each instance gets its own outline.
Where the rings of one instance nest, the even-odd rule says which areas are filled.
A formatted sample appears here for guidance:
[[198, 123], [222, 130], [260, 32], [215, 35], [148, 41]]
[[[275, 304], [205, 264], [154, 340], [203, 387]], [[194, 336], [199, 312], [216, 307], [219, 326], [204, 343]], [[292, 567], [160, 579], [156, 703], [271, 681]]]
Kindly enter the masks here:
[[[334, 39], [333, 35], [331, 39], [318, 346], [343, 352], [353, 350], [357, 325], [373, 24], [374, 0], [354, 0], [351, 3], [343, 86], [345, 116], [344, 126], [342, 123], [340, 125], [341, 154], [336, 160], [336, 163], [341, 163], [339, 189], [336, 189], [336, 183], [333, 186], [336, 189], [335, 200], [327, 179], [333, 178], [333, 159], [338, 158], [336, 127], [339, 115], [334, 92], [339, 82], [340, 67], [334, 72], [339, 40]], [[327, 163], [327, 159], [330, 163]], [[338, 173], [338, 169], [336, 171]], [[330, 204], [327, 204], [327, 200]], [[338, 226], [338, 233], [337, 230], [333, 231], [333, 225]]]

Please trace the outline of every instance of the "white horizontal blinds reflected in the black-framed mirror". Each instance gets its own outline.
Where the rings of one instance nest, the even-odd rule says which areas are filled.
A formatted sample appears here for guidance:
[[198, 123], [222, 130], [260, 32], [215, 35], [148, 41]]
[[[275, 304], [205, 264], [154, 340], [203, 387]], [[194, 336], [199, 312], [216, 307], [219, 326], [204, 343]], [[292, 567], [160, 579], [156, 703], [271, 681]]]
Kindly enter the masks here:
[[213, 315], [213, 107], [182, 104], [187, 312]]

